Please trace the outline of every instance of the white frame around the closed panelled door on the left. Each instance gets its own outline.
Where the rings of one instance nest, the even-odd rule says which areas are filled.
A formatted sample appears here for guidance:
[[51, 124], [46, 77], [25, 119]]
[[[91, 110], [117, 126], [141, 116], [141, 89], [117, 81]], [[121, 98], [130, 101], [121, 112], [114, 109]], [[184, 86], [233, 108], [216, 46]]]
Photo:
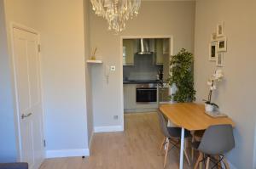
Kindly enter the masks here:
[[[30, 33], [33, 33], [38, 36], [38, 44], [40, 44], [40, 33], [39, 31], [36, 31], [33, 28], [30, 28], [26, 25], [21, 25], [15, 22], [10, 22], [9, 25], [9, 54], [10, 56], [10, 65], [11, 65], [11, 70], [12, 70], [12, 88], [13, 88], [13, 98], [14, 98], [14, 120], [15, 120], [15, 138], [16, 138], [16, 149], [17, 149], [17, 161], [21, 161], [22, 159], [22, 152], [21, 152], [21, 133], [20, 133], [20, 112], [19, 112], [19, 104], [18, 104], [18, 89], [17, 89], [17, 80], [16, 80], [16, 71], [15, 71], [15, 49], [14, 49], [14, 32], [13, 29], [19, 29], [22, 31], [27, 31]], [[43, 103], [43, 87], [42, 87], [42, 70], [41, 70], [41, 54], [40, 52], [38, 53], [38, 66], [39, 66], [39, 79], [40, 79], [40, 99], [41, 99], [41, 104], [42, 104], [42, 135], [43, 138], [45, 139], [44, 135], [44, 103]], [[45, 148], [44, 148], [44, 158], [45, 158]]]

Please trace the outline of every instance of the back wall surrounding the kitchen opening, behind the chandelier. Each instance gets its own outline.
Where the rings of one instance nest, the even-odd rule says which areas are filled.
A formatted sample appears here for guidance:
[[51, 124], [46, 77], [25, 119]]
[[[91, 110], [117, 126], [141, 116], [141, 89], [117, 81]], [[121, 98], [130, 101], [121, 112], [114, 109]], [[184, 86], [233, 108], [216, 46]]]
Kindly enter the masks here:
[[[96, 16], [90, 7], [90, 47], [98, 48], [97, 58], [103, 65], [92, 67], [93, 113], [95, 127], [120, 127], [122, 119], [122, 56], [120, 36], [173, 36], [174, 53], [181, 48], [194, 48], [194, 2], [143, 2], [137, 18], [127, 22], [119, 35], [108, 31], [107, 21]], [[109, 83], [104, 76], [105, 65], [116, 65]]]

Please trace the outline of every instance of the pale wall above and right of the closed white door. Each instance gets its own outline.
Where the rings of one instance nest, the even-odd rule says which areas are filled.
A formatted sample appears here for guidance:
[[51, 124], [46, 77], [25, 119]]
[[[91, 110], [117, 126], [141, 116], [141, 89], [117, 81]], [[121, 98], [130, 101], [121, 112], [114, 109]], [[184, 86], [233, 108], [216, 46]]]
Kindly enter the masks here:
[[6, 0], [10, 21], [41, 34], [47, 155], [88, 154], [83, 0]]

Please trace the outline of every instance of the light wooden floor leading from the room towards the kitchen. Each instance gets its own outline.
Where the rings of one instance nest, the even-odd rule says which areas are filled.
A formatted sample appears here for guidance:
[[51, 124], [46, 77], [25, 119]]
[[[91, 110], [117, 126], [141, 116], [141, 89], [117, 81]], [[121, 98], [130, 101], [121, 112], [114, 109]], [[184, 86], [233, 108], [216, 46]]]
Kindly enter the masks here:
[[[125, 132], [96, 133], [91, 155], [47, 159], [40, 169], [161, 169], [158, 154], [163, 135], [156, 113], [125, 114]], [[166, 169], [177, 169], [178, 149], [169, 152]], [[192, 168], [184, 161], [184, 168]]]

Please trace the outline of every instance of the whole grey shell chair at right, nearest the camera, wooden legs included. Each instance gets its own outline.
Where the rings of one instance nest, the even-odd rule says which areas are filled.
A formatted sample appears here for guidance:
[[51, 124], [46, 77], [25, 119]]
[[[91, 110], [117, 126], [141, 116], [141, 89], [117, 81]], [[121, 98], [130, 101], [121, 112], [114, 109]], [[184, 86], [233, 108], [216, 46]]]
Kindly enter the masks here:
[[195, 168], [198, 167], [201, 161], [205, 161], [206, 159], [207, 168], [209, 167], [210, 161], [214, 162], [215, 166], [219, 166], [224, 162], [225, 168], [229, 168], [224, 154], [235, 147], [233, 127], [231, 125], [208, 127], [201, 138], [201, 142], [195, 142], [192, 146], [200, 151], [200, 155], [195, 163]]

